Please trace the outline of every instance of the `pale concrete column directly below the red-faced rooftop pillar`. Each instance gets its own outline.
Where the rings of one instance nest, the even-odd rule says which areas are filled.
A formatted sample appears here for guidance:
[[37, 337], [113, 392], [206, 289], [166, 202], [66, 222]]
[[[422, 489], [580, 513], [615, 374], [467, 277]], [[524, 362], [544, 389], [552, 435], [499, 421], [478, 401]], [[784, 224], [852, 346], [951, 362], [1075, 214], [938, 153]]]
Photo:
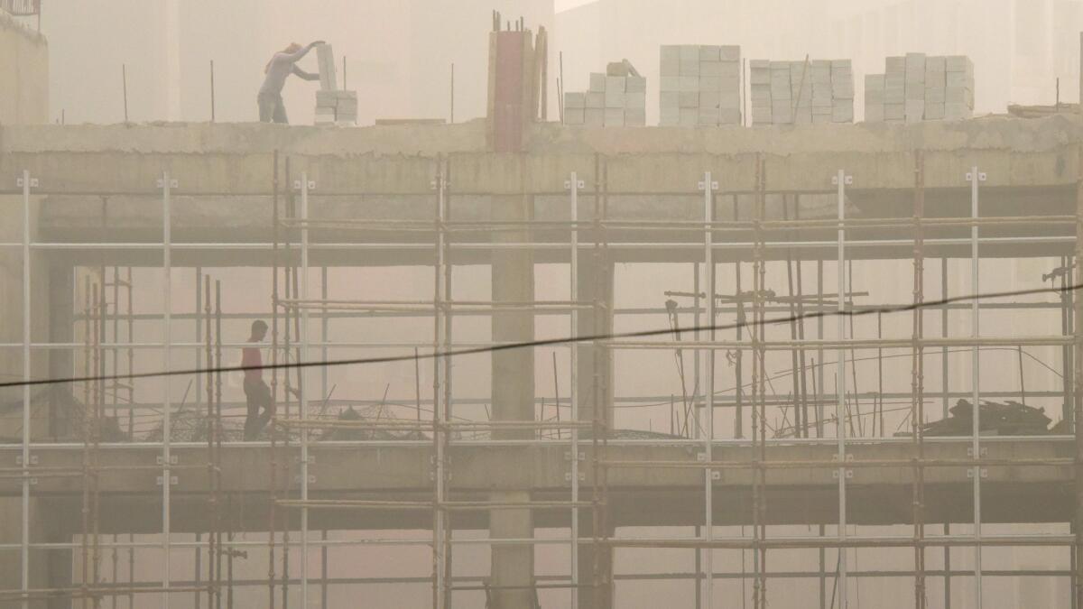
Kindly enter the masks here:
[[[525, 182], [524, 182], [525, 183]], [[523, 221], [533, 217], [534, 197], [495, 196], [491, 217], [497, 221]], [[494, 242], [525, 242], [525, 231], [495, 232]], [[534, 300], [534, 256], [531, 251], [497, 249], [493, 251], [493, 301]], [[521, 341], [534, 338], [534, 313], [508, 311], [493, 314], [493, 340]], [[493, 355], [493, 420], [534, 420], [534, 351], [517, 349]], [[494, 432], [494, 438], [532, 439], [533, 430]], [[524, 472], [525, 475], [525, 472]], [[511, 478], [518, 478], [512, 476]], [[521, 502], [531, 498], [530, 480], [516, 489], [495, 490], [496, 502]], [[490, 534], [493, 537], [534, 536], [531, 510], [494, 510], [490, 513]], [[534, 607], [534, 547], [532, 545], [495, 546], [492, 552], [492, 584], [517, 586], [496, 589], [493, 609], [532, 609]], [[523, 586], [518, 588], [518, 586]]]

